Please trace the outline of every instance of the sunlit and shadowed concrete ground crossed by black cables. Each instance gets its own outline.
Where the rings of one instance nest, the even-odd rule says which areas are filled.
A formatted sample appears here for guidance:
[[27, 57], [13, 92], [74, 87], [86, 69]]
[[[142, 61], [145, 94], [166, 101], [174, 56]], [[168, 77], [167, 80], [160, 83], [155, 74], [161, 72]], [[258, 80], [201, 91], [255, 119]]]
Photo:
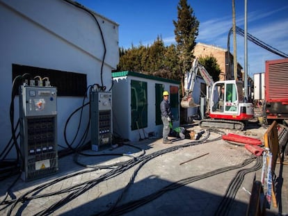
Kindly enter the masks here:
[[[187, 130], [201, 131], [195, 124]], [[265, 132], [253, 124], [246, 131], [207, 130], [200, 140], [151, 138], [70, 154], [59, 158], [56, 174], [15, 185], [17, 176], [2, 181], [0, 215], [246, 215], [262, 157], [222, 134], [264, 143]], [[277, 207], [271, 203], [266, 215], [288, 215], [287, 166], [277, 164], [274, 178]]]

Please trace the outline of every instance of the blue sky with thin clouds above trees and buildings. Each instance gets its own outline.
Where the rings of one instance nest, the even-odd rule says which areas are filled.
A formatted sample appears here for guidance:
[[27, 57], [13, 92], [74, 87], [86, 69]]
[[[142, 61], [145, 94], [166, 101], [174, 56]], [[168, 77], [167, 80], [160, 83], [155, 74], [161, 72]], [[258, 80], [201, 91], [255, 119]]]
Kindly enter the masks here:
[[[86, 8], [107, 17], [119, 26], [119, 46], [152, 44], [161, 36], [166, 45], [175, 42], [173, 20], [177, 21], [178, 0], [77, 0]], [[196, 42], [227, 49], [227, 35], [232, 27], [232, 0], [188, 0], [199, 20]], [[247, 0], [248, 33], [271, 47], [288, 53], [288, 1]], [[236, 24], [244, 29], [245, 0], [235, 0]], [[233, 53], [233, 38], [230, 52]], [[248, 41], [248, 74], [265, 70], [265, 61], [280, 59]], [[237, 35], [237, 60], [244, 68], [244, 38]]]

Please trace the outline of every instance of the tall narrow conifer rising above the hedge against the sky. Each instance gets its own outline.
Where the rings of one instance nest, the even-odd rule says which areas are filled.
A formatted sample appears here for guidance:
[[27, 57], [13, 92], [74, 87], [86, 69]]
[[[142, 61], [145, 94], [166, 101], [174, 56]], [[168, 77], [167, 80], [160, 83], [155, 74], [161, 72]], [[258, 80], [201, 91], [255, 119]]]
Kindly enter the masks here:
[[177, 22], [173, 20], [173, 24], [180, 66], [179, 80], [183, 82], [184, 74], [191, 68], [194, 58], [193, 49], [198, 36], [199, 21], [193, 13], [193, 8], [187, 4], [186, 0], [179, 0], [177, 10]]

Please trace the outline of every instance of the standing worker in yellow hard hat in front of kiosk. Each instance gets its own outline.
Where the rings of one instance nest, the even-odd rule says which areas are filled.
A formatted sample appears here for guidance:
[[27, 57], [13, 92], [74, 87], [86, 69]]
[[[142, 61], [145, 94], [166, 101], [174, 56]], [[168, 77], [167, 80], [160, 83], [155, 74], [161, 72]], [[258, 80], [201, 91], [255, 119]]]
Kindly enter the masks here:
[[170, 104], [168, 102], [169, 92], [163, 91], [163, 100], [160, 103], [161, 119], [163, 122], [163, 144], [172, 144], [172, 141], [168, 140], [168, 135], [170, 133], [170, 122], [173, 119], [171, 113]]

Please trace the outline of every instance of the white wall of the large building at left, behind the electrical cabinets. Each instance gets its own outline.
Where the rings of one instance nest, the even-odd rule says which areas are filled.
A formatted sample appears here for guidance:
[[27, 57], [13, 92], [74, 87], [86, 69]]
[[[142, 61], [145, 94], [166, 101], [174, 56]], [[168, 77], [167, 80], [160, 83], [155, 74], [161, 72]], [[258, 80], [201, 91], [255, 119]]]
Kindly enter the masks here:
[[[118, 24], [93, 13], [99, 21], [101, 33], [91, 15], [63, 0], [1, 0], [0, 14], [0, 135], [3, 141], [0, 145], [1, 152], [11, 138], [9, 113], [13, 64], [87, 74], [88, 85], [100, 83], [102, 78], [103, 84], [109, 89], [112, 85], [111, 70], [118, 64], [119, 54]], [[103, 38], [106, 56], [101, 76]], [[74, 88], [77, 88], [77, 85]], [[82, 103], [82, 97], [58, 97], [58, 144], [66, 146], [63, 136], [65, 123]], [[88, 122], [88, 111], [88, 108], [83, 110], [84, 124]], [[19, 106], [16, 97], [15, 125], [18, 117]], [[78, 123], [79, 116], [71, 119], [67, 127], [67, 140], [74, 138]], [[84, 129], [81, 127], [82, 131], [79, 133]]]

